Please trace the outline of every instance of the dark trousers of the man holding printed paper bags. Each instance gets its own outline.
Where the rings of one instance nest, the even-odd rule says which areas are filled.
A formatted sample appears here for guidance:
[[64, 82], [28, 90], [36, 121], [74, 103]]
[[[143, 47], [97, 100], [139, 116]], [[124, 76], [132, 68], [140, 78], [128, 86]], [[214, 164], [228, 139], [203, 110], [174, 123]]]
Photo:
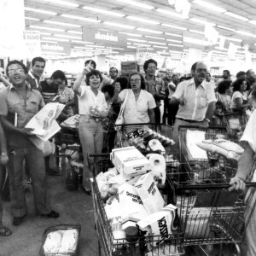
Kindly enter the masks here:
[[26, 160], [32, 178], [33, 197], [37, 214], [48, 214], [50, 208], [46, 202], [44, 156], [34, 146], [9, 148], [7, 165], [10, 181], [11, 213], [14, 217], [26, 215], [26, 196], [22, 184], [22, 167]]

